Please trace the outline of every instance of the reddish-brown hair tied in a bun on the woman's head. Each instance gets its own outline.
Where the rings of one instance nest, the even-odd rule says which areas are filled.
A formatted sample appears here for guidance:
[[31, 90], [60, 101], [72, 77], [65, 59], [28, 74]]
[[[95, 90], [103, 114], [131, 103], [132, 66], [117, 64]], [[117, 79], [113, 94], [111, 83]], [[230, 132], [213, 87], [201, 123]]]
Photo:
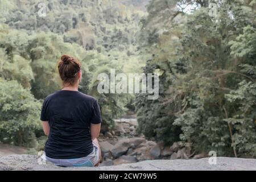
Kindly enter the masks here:
[[73, 86], [78, 78], [81, 70], [81, 63], [75, 57], [62, 55], [58, 61], [58, 69], [63, 86]]

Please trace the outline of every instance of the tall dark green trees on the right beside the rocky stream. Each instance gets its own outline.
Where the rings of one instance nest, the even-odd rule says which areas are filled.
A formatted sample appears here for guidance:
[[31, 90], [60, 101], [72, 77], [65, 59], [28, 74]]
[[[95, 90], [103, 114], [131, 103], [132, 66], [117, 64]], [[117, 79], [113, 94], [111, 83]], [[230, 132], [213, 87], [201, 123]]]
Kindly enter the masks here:
[[[162, 14], [167, 7], [160, 7]], [[255, 157], [255, 11], [248, 2], [222, 1], [216, 17], [201, 5], [179, 23], [159, 17], [171, 26], [148, 43], [153, 55], [144, 72], [162, 72], [160, 94], [157, 101], [137, 96], [140, 131], [197, 152]]]

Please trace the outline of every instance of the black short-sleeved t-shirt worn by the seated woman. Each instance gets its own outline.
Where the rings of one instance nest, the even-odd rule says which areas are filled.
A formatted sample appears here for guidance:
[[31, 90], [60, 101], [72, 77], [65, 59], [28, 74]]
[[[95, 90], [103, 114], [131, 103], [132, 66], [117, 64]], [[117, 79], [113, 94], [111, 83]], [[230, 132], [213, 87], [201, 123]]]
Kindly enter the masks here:
[[79, 91], [59, 90], [44, 100], [41, 117], [50, 130], [44, 151], [49, 158], [82, 158], [93, 151], [90, 123], [101, 123], [94, 97]]

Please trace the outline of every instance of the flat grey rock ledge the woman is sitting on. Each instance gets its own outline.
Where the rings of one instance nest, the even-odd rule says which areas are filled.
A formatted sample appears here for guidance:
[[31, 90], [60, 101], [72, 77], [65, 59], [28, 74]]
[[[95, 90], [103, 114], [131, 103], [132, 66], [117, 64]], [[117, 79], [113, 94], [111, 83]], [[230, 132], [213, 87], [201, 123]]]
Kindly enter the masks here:
[[34, 155], [9, 155], [0, 158], [0, 170], [254, 170], [256, 171], [256, 159], [241, 158], [217, 158], [216, 165], [208, 163], [209, 158], [191, 160], [145, 160], [138, 163], [121, 164], [118, 166], [102, 167], [57, 167], [53, 164], [38, 164], [38, 156]]

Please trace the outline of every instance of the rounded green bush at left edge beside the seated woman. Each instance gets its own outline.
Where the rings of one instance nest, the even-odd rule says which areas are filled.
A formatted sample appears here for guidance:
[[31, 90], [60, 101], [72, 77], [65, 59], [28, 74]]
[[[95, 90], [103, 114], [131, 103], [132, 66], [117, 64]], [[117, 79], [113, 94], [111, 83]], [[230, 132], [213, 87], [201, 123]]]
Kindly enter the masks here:
[[17, 81], [0, 78], [0, 141], [32, 147], [41, 103]]

